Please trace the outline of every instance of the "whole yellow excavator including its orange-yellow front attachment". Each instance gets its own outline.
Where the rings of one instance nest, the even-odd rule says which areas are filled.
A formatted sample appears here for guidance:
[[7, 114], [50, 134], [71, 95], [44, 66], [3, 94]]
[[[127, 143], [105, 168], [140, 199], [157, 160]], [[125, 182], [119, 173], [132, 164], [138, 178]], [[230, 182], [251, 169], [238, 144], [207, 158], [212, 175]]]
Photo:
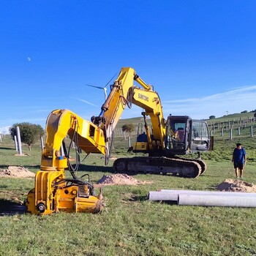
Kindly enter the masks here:
[[[139, 86], [134, 86], [136, 81]], [[119, 158], [113, 164], [118, 173], [171, 173], [195, 178], [206, 170], [201, 159], [177, 157], [190, 152], [207, 151], [210, 146], [205, 121], [194, 121], [189, 116], [168, 116], [165, 120], [159, 95], [145, 83], [131, 67], [123, 67], [102, 105], [99, 116], [86, 121], [70, 110], [54, 110], [46, 122], [46, 141], [42, 151], [40, 170], [35, 177], [35, 187], [26, 200], [32, 214], [52, 214], [59, 211], [97, 213], [102, 209], [102, 194], [95, 195], [89, 181], [75, 173], [81, 150], [103, 154], [108, 165], [113, 148], [113, 133], [124, 108], [132, 104], [143, 108], [144, 126], [132, 150], [148, 154], [146, 157]], [[146, 117], [151, 118], [151, 125]], [[77, 159], [71, 165], [69, 149], [64, 138], [75, 142]], [[70, 148], [70, 146], [69, 146]], [[62, 149], [62, 150], [61, 150]], [[62, 151], [62, 152], [61, 152]], [[69, 168], [72, 178], [66, 178]]]

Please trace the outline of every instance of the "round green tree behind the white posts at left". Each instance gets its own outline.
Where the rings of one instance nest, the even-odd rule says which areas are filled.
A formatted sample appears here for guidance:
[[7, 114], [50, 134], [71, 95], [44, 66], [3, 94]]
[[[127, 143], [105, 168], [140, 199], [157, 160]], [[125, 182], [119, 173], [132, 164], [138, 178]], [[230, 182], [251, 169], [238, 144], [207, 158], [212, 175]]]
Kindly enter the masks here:
[[39, 124], [30, 124], [28, 122], [16, 123], [12, 124], [10, 128], [10, 135], [13, 140], [14, 136], [17, 135], [17, 127], [20, 128], [20, 140], [29, 146], [29, 151], [31, 151], [31, 145], [45, 133]]

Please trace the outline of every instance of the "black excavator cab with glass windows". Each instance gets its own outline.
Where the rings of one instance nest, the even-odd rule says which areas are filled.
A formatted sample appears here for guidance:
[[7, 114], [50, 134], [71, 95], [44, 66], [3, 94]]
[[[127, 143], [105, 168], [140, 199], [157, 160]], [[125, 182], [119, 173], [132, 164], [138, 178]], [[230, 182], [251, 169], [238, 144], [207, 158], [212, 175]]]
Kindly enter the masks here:
[[210, 146], [206, 121], [189, 116], [168, 116], [165, 136], [165, 156], [207, 151]]

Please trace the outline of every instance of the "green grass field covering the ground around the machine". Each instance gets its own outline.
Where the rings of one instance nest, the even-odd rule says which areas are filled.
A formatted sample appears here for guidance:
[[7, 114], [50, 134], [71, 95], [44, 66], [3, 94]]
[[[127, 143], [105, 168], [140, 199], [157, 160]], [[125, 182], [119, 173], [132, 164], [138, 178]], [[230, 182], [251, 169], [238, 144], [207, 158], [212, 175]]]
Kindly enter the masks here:
[[[103, 189], [101, 214], [53, 214], [39, 217], [15, 214], [0, 217], [0, 255], [256, 255], [255, 208], [176, 206], [149, 202], [156, 189], [214, 190], [225, 178], [234, 178], [231, 154], [236, 142], [246, 148], [244, 181], [256, 183], [256, 140], [249, 136], [217, 137], [215, 151], [203, 154], [208, 170], [195, 179], [138, 175], [152, 184], [108, 186]], [[117, 138], [113, 157], [127, 155], [127, 141]], [[40, 148], [15, 156], [12, 141], [0, 143], [0, 168], [21, 165], [39, 170]], [[97, 182], [111, 174], [113, 160], [91, 155], [78, 176], [89, 173]], [[0, 178], [0, 202], [25, 200], [34, 187], [28, 178]], [[3, 207], [3, 206], [1, 206]]]

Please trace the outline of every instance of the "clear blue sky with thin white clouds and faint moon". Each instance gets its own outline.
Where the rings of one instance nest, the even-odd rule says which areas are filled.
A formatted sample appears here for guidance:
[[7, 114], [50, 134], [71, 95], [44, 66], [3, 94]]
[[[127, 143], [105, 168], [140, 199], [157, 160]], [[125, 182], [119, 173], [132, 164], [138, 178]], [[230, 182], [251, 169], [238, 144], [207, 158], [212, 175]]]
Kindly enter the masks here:
[[0, 127], [45, 128], [59, 108], [90, 119], [104, 93], [86, 84], [105, 86], [121, 67], [154, 86], [166, 117], [254, 110], [255, 10], [254, 0], [1, 1]]

